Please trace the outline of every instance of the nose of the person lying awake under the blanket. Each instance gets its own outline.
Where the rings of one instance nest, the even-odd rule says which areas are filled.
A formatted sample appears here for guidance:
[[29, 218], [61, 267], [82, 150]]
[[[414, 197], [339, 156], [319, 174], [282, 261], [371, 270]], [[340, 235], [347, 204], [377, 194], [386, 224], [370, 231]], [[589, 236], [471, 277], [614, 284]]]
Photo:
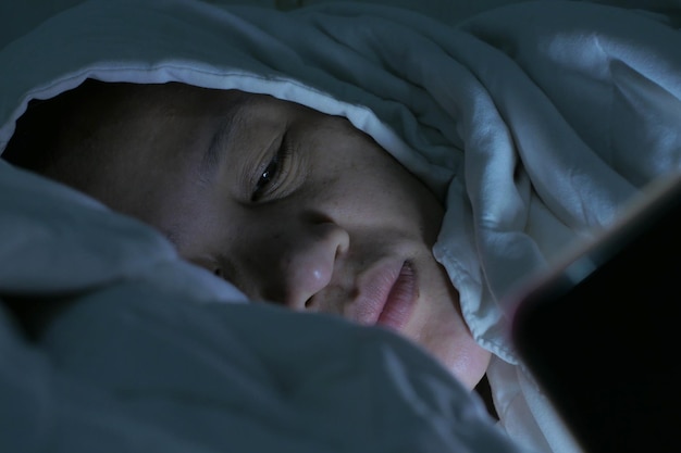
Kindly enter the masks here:
[[280, 252], [275, 300], [293, 310], [311, 309], [312, 297], [332, 282], [349, 244], [348, 232], [331, 222], [300, 226], [280, 237], [273, 246]]

